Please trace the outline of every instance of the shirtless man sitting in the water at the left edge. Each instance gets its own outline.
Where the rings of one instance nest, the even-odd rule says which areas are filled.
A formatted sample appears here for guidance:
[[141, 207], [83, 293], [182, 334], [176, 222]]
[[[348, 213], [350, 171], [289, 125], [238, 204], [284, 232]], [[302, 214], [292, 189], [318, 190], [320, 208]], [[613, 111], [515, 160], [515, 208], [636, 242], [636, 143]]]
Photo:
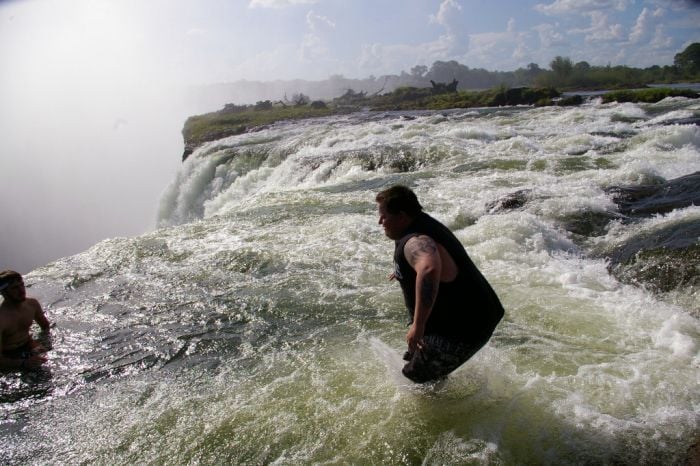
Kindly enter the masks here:
[[34, 298], [27, 298], [22, 276], [13, 271], [0, 272], [0, 368], [35, 369], [46, 361], [45, 349], [29, 334], [36, 321], [44, 332], [49, 321]]

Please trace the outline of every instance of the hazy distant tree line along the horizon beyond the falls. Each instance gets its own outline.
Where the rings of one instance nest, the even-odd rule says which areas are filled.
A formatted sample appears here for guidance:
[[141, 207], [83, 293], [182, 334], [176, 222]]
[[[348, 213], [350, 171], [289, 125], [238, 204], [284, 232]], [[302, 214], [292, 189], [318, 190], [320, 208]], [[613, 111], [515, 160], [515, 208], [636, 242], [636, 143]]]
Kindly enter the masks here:
[[[693, 43], [675, 55], [674, 64], [633, 68], [629, 66], [593, 66], [586, 61], [574, 63], [568, 57], [555, 57], [549, 68], [530, 63], [514, 71], [488, 71], [470, 68], [454, 60], [436, 61], [432, 66], [416, 65], [409, 72], [369, 76], [364, 79], [333, 75], [322, 81], [238, 81], [198, 90], [194, 96], [209, 107], [222, 102], [258, 104], [260, 109], [275, 106], [300, 106], [330, 101], [339, 96], [347, 100], [369, 98], [393, 92], [400, 87], [430, 88], [431, 83], [458, 82], [457, 89], [481, 90], [494, 87], [552, 87], [561, 91], [629, 89], [647, 84], [700, 82], [700, 43]], [[350, 91], [350, 94], [347, 94]], [[347, 94], [347, 95], [346, 95]], [[284, 95], [282, 99], [280, 96]], [[291, 98], [287, 98], [291, 95]], [[233, 110], [233, 109], [231, 109]]]

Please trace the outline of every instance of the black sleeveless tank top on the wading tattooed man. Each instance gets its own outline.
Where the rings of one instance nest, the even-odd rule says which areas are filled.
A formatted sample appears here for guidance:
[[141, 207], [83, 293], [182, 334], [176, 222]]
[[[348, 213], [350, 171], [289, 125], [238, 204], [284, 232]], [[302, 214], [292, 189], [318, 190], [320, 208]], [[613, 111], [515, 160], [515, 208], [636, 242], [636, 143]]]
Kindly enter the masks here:
[[426, 213], [421, 213], [396, 241], [394, 273], [403, 291], [409, 319], [413, 322], [416, 303], [416, 271], [406, 260], [406, 242], [417, 235], [427, 235], [441, 244], [457, 264], [457, 277], [440, 282], [438, 295], [426, 323], [426, 335], [443, 335], [472, 340], [490, 335], [503, 317], [498, 296], [469, 258], [467, 251], [452, 232]]

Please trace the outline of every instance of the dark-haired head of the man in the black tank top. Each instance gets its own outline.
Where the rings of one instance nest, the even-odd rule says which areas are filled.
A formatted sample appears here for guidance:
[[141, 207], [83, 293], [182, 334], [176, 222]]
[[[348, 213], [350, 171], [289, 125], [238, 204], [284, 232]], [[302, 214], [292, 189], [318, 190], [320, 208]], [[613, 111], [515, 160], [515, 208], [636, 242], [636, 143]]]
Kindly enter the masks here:
[[396, 185], [377, 194], [379, 224], [391, 239], [400, 239], [404, 231], [420, 215], [423, 207], [415, 193], [406, 186]]

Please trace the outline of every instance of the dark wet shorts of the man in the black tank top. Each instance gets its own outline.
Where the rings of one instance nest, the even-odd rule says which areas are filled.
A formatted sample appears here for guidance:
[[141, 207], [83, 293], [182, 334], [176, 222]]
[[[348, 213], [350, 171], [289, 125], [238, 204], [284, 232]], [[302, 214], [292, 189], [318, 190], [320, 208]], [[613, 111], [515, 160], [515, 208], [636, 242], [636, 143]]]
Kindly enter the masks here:
[[404, 355], [408, 362], [401, 372], [416, 383], [441, 379], [474, 356], [488, 340], [464, 342], [440, 335], [426, 335], [422, 349]]

